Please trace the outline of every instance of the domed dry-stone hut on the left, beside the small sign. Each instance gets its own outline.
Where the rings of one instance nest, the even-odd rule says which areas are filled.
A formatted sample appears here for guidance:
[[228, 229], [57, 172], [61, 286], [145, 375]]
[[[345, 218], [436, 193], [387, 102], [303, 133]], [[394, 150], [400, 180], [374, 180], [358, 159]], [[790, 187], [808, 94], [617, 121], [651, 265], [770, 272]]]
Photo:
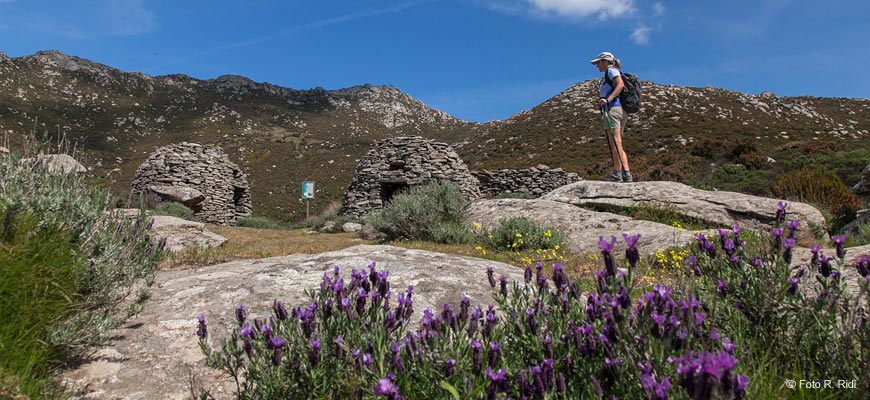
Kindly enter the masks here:
[[220, 225], [235, 225], [252, 209], [245, 173], [215, 145], [157, 149], [136, 171], [133, 193], [183, 203], [202, 221]]

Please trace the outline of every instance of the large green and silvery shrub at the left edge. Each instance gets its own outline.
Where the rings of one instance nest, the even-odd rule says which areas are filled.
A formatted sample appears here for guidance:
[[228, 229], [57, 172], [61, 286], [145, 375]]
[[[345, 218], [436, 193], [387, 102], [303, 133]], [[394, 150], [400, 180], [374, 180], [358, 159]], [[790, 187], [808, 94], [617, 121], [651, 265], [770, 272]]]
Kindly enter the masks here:
[[141, 213], [35, 159], [0, 154], [0, 397], [57, 395], [52, 374], [139, 310], [163, 255]]

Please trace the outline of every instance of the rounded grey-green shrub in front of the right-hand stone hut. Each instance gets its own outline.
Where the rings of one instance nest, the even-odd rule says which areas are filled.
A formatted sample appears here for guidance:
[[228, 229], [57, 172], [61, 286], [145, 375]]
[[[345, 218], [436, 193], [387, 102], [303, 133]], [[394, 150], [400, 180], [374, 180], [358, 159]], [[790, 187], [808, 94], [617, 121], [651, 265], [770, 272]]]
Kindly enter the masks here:
[[430, 240], [432, 231], [442, 222], [460, 222], [462, 210], [468, 204], [456, 184], [436, 181], [396, 194], [383, 209], [372, 213], [368, 221], [388, 240]]

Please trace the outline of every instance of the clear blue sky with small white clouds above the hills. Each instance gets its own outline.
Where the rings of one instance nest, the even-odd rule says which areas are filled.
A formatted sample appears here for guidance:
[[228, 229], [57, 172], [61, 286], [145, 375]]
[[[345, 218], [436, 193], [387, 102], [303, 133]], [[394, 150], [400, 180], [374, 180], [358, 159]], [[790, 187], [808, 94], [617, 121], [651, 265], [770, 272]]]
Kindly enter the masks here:
[[471, 121], [598, 77], [870, 97], [866, 0], [0, 0], [0, 51], [294, 89], [394, 85]]

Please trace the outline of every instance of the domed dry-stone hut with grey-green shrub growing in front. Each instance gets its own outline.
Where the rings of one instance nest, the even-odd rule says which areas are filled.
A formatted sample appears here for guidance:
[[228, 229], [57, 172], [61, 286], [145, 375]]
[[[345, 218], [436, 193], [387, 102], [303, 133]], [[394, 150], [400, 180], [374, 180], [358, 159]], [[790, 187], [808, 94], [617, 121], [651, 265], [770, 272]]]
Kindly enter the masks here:
[[471, 199], [480, 197], [477, 179], [450, 145], [420, 136], [375, 142], [356, 168], [340, 213], [362, 217], [401, 190], [444, 180]]

